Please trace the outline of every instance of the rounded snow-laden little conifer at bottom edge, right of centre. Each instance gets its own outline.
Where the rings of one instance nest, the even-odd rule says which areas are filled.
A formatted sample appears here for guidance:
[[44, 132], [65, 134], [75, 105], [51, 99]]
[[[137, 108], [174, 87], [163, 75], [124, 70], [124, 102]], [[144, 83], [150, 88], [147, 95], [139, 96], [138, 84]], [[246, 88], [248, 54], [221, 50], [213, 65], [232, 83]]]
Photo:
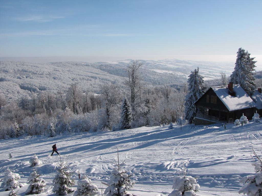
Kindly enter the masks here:
[[199, 184], [192, 176], [176, 176], [173, 191], [168, 196], [195, 196], [199, 191]]

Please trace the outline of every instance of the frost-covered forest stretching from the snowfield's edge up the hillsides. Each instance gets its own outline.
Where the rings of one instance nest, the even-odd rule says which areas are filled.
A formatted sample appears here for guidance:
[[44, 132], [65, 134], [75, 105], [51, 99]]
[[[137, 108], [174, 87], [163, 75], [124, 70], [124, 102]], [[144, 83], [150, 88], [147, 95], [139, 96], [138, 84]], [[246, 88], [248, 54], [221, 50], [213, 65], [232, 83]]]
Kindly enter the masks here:
[[[163, 66], [163, 72], [158, 73], [146, 69], [149, 65], [145, 62], [128, 61], [128, 65], [126, 61], [117, 62], [117, 66], [105, 63], [91, 66], [71, 62], [47, 64], [67, 67], [67, 71], [74, 73], [74, 76], [67, 76], [61, 70], [55, 69], [43, 75], [47, 65], [41, 68], [40, 65], [2, 61], [1, 65], [4, 66], [1, 67], [1, 84], [6, 90], [2, 91], [0, 97], [0, 138], [32, 135], [52, 137], [72, 132], [109, 131], [170, 122], [186, 123], [185, 116], [189, 123], [192, 123], [194, 115], [189, 117], [186, 113], [188, 109], [184, 109], [185, 106], [191, 108], [192, 103], [196, 101], [185, 101], [185, 96], [194, 91], [194, 86], [188, 86], [184, 76], [179, 77], [177, 74], [163, 71], [168, 66]], [[34, 66], [37, 70], [33, 69]], [[155, 70], [157, 68], [156, 66]], [[84, 78], [83, 74], [81, 75], [83, 69], [91, 75]], [[205, 70], [199, 69], [198, 72], [201, 75], [204, 72], [205, 75]], [[201, 81], [203, 90], [197, 97], [212, 85], [228, 83], [228, 74], [223, 70], [219, 74], [217, 79], [207, 80], [206, 83]], [[53, 79], [48, 79], [48, 75]], [[260, 75], [260, 72], [254, 75], [257, 87], [261, 86]], [[91, 80], [90, 77], [95, 79]], [[164, 79], [164, 84], [158, 85], [161, 78]], [[192, 83], [190, 80], [188, 82]], [[20, 95], [20, 91], [12, 84], [19, 85], [20, 90], [24, 89], [25, 93]], [[50, 85], [50, 89], [44, 87], [47, 85]], [[13, 92], [19, 96], [10, 96]], [[124, 98], [130, 102], [127, 126], [121, 123]]]

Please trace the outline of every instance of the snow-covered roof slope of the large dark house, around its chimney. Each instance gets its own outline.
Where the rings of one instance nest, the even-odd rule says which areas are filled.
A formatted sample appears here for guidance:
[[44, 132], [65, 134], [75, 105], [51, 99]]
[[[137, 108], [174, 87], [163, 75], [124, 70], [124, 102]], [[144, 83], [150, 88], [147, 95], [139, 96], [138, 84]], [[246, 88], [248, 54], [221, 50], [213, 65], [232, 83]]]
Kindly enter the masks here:
[[233, 85], [233, 91], [236, 96], [228, 94], [227, 86], [211, 88], [229, 111], [256, 107], [256, 103], [239, 85]]

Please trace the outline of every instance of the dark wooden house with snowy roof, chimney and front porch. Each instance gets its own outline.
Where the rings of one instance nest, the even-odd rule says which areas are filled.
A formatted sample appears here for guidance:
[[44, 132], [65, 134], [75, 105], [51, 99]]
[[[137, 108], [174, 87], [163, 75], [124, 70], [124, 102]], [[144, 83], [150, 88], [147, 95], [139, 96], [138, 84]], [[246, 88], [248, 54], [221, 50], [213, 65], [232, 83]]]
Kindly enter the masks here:
[[194, 105], [199, 111], [195, 125], [234, 122], [243, 113], [252, 119], [257, 107], [248, 94], [232, 82], [228, 86], [210, 87]]

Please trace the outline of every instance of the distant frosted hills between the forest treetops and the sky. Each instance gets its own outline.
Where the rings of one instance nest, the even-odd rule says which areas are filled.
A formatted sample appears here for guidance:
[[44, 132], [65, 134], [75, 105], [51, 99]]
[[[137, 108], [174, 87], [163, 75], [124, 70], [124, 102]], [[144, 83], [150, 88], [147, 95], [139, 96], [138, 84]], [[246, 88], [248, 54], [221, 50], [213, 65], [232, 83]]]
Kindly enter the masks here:
[[[124, 87], [127, 79], [126, 68], [132, 61], [134, 60], [96, 63], [0, 61], [0, 95], [12, 99], [29, 94], [31, 90], [66, 90], [75, 82], [79, 82], [81, 89], [92, 92], [98, 92], [100, 84], [103, 83]], [[177, 59], [139, 61], [143, 63], [141, 79], [149, 85], [184, 83], [196, 67], [200, 68], [200, 74], [205, 79], [219, 78], [222, 70], [230, 70], [226, 71], [229, 75], [234, 68], [234, 65], [228, 63]]]

